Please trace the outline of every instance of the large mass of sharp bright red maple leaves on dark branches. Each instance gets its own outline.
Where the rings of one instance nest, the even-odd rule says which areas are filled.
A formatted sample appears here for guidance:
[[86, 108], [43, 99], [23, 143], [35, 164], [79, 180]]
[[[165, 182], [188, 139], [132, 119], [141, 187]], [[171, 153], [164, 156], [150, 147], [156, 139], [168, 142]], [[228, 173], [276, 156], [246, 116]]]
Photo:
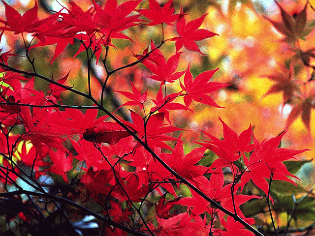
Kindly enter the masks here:
[[[218, 69], [203, 72], [195, 79], [190, 73], [189, 65], [186, 71], [176, 72], [181, 56], [179, 50], [182, 46], [201, 53], [195, 41], [216, 35], [209, 30], [198, 29], [206, 15], [186, 23], [183, 12], [174, 14], [172, 0], [163, 7], [155, 0], [150, 0], [150, 9], [138, 10], [135, 8], [140, 0], [126, 1], [121, 5], [117, 5], [116, 0], [108, 0], [103, 8], [93, 0], [93, 6], [87, 11], [70, 2], [70, 8], [64, 8], [67, 13], [60, 11], [38, 20], [37, 3], [23, 16], [3, 3], [6, 20], [0, 19], [3, 24], [0, 29], [22, 35], [24, 32], [32, 33], [39, 42], [26, 48], [27, 51], [34, 47], [57, 43], [52, 61], [75, 39], [82, 43], [78, 53], [89, 48], [99, 58], [102, 47], [114, 46], [111, 38], [132, 40], [124, 30], [139, 24], [149, 26], [176, 24], [179, 35], [165, 40], [175, 41], [176, 45], [176, 53], [167, 60], [153, 42], [150, 51], [148, 47], [143, 55], [134, 55], [139, 63], [142, 62], [153, 73], [150, 78], [160, 82], [160, 89], [156, 99], [152, 98], [155, 104], [152, 107], [145, 105], [147, 92], [141, 94], [132, 84], [132, 93], [117, 91], [129, 99], [122, 106], [139, 106], [144, 113], [150, 111], [147, 115], [141, 116], [140, 112], [138, 114], [130, 110], [132, 122], [122, 120], [115, 114], [112, 114], [115, 122], [105, 121], [108, 116], [97, 118], [98, 110], [104, 111], [104, 108], [96, 102], [96, 106], [90, 107], [85, 113], [75, 108], [59, 109], [58, 105], [63, 107], [63, 91], [72, 91], [72, 88], [63, 85], [68, 75], [57, 82], [53, 78], [48, 79], [49, 89], [45, 93], [34, 89], [34, 78], [27, 79], [23, 73], [3, 70], [0, 87], [2, 144], [0, 153], [5, 157], [2, 165], [7, 170], [12, 168], [14, 171], [7, 172], [9, 178], [1, 172], [1, 181], [12, 183], [16, 180], [17, 175], [14, 174], [19, 172], [8, 160], [20, 158], [20, 163], [32, 166], [36, 178], [40, 175], [55, 174], [62, 176], [68, 183], [68, 175], [76, 173], [72, 165], [75, 158], [79, 161], [80, 181], [86, 187], [88, 196], [105, 208], [107, 206], [104, 205], [104, 201], [109, 201], [111, 208], [104, 210], [103, 213], [120, 224], [127, 226], [126, 222], [135, 218], [130, 216], [139, 213], [133, 203], [140, 203], [142, 206], [148, 196], [156, 190], [161, 195], [159, 201], [155, 203], [156, 221], [142, 220], [135, 230], [153, 232], [157, 236], [183, 235], [184, 232], [209, 235], [210, 230], [213, 231], [213, 235], [218, 236], [229, 235], [230, 232], [236, 235], [252, 235], [231, 216], [224, 217], [224, 212], [213, 207], [192, 188], [190, 189], [192, 198], [178, 197], [175, 187], [176, 185], [180, 187], [181, 179], [170, 172], [165, 164], [180, 177], [193, 183], [210, 199], [220, 202], [228, 211], [233, 212], [235, 209], [234, 213], [249, 224], [254, 223], [253, 219], [246, 219], [239, 206], [258, 197], [243, 195], [239, 189], [252, 180], [267, 194], [268, 183], [265, 178], [269, 178], [271, 173], [275, 179], [294, 183], [287, 178], [294, 176], [287, 171], [282, 161], [293, 158], [305, 150], [278, 148], [283, 134], [259, 143], [252, 135], [251, 126], [238, 136], [221, 121], [224, 140], [207, 134], [212, 141], [200, 143], [203, 147], [194, 148], [187, 154], [184, 152], [181, 136], [179, 138], [170, 136], [170, 133], [183, 130], [170, 124], [170, 110], [190, 110], [192, 100], [220, 107], [208, 94], [227, 86], [209, 82]], [[133, 11], [139, 14], [130, 14]], [[142, 16], [150, 22], [143, 20]], [[13, 55], [9, 53], [1, 55], [4, 69], [8, 69], [6, 57], [9, 56]], [[36, 76], [35, 73], [34, 75]], [[178, 81], [183, 75], [183, 81], [179, 82], [182, 90], [165, 94], [167, 83]], [[174, 102], [181, 97], [185, 106], [180, 102]], [[164, 118], [169, 122], [165, 123]], [[23, 127], [20, 130], [24, 131], [13, 134], [12, 129], [15, 126]], [[169, 141], [176, 142], [174, 148]], [[32, 144], [30, 150], [26, 148], [27, 143]], [[71, 151], [65, 148], [66, 143], [67, 145], [71, 143], [73, 147]], [[16, 152], [19, 144], [23, 145], [22, 149]], [[158, 160], [157, 156], [148, 151], [149, 149], [154, 151]], [[198, 165], [207, 149], [216, 153], [219, 158], [210, 167]], [[251, 151], [252, 155], [249, 156]], [[237, 167], [236, 161], [244, 163], [242, 168]], [[122, 164], [129, 168], [123, 168]], [[224, 167], [230, 168], [234, 182], [224, 185], [222, 173]], [[205, 177], [207, 173], [212, 173], [210, 179]], [[174, 182], [176, 184], [173, 184]], [[165, 191], [175, 199], [166, 201]], [[123, 205], [123, 202], [127, 204]], [[174, 205], [186, 206], [187, 210], [183, 212], [173, 210]], [[210, 220], [207, 219], [205, 212], [211, 215]], [[218, 220], [224, 229], [214, 227], [214, 221]], [[114, 234], [110, 227], [106, 226], [104, 230], [108, 235]], [[125, 236], [126, 232], [116, 230], [115, 235]]]

